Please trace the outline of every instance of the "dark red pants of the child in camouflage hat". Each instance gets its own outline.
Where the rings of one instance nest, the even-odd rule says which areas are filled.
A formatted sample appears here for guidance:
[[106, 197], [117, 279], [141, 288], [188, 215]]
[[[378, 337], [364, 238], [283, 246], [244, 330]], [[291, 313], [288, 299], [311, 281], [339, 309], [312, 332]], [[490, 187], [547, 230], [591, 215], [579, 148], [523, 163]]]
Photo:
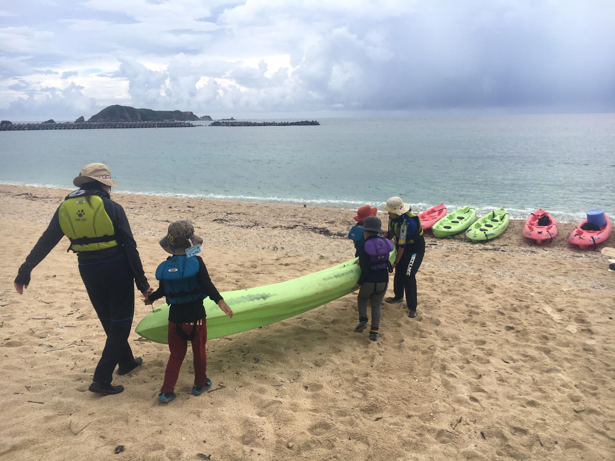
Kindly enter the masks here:
[[[183, 329], [186, 336], [190, 336], [194, 324], [181, 323], [181, 329]], [[164, 372], [164, 384], [160, 392], [173, 392], [175, 390], [175, 383], [177, 383], [177, 377], [180, 374], [181, 363], [186, 357], [186, 350], [188, 349], [188, 341], [182, 339], [177, 334], [177, 328], [175, 323], [169, 322], [169, 350], [171, 355], [169, 357], [169, 363], [167, 363], [167, 371]], [[194, 384], [197, 386], [204, 386], [205, 380], [207, 380], [207, 353], [205, 353], [205, 344], [207, 344], [207, 319], [199, 320], [196, 325], [196, 334], [192, 339], [192, 355], [194, 355]]]

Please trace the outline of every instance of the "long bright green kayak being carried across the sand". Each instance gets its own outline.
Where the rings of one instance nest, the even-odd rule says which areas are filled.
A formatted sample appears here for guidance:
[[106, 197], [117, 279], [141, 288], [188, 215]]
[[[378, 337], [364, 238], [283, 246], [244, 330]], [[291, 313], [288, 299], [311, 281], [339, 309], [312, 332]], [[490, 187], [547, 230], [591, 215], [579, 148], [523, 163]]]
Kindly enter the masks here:
[[[361, 272], [359, 264], [352, 264], [354, 261], [287, 282], [221, 293], [232, 309], [232, 319], [213, 301], [205, 299], [207, 339], [269, 325], [351, 293]], [[389, 261], [395, 261], [395, 250]], [[146, 339], [167, 344], [168, 325], [169, 305], [164, 304], [143, 317], [135, 331]]]

